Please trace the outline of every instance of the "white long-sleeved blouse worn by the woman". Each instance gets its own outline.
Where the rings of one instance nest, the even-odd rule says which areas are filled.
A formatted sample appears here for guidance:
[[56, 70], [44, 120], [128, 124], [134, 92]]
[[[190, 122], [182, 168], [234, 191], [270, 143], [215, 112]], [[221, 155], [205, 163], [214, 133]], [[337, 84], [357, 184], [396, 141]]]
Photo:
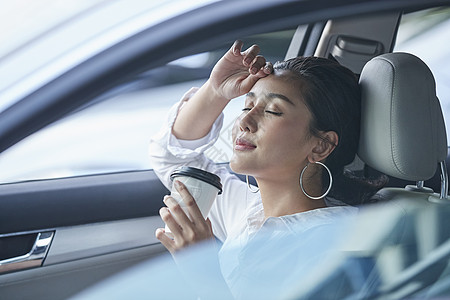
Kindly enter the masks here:
[[209, 160], [204, 154], [219, 136], [223, 115], [215, 121], [211, 131], [199, 140], [179, 140], [171, 133], [178, 112], [195, 91], [188, 91], [182, 100], [171, 108], [167, 123], [152, 137], [151, 166], [169, 190], [172, 188], [170, 174], [180, 166], [200, 168], [220, 177], [223, 192], [217, 196], [208, 217], [214, 235], [224, 243], [219, 251], [223, 276], [234, 295], [241, 298], [244, 297], [248, 285], [245, 280], [246, 273], [249, 277], [254, 274], [254, 269], [250, 270], [249, 265], [242, 261], [248, 257], [247, 245], [251, 239], [257, 240], [260, 235], [264, 235], [265, 241], [272, 238], [295, 239], [311, 229], [332, 224], [342, 214], [355, 214], [357, 208], [327, 198], [326, 208], [265, 219], [261, 195], [251, 193], [245, 182], [231, 174], [227, 168]]

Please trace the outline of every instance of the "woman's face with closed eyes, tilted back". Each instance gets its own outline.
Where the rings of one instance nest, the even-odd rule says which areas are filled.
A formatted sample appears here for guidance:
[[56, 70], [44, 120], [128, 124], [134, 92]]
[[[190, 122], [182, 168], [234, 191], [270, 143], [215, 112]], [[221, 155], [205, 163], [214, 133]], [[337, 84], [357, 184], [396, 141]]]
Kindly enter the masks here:
[[300, 173], [316, 139], [309, 133], [311, 113], [300, 94], [303, 84], [289, 71], [257, 81], [234, 124], [233, 171], [259, 178]]

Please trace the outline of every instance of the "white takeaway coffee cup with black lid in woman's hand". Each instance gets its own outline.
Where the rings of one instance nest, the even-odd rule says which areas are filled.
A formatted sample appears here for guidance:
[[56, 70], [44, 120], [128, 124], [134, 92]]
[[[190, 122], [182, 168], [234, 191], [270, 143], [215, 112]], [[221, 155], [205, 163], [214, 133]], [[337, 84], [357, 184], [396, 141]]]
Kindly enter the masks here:
[[[172, 183], [175, 180], [178, 180], [186, 186], [187, 190], [197, 203], [203, 218], [205, 219], [208, 216], [217, 195], [222, 193], [220, 177], [201, 169], [183, 166], [175, 170], [170, 175], [170, 179], [172, 180]], [[186, 204], [173, 184], [170, 196], [178, 202], [180, 207], [189, 217]], [[169, 236], [172, 235], [167, 225], [165, 227], [165, 232]]]

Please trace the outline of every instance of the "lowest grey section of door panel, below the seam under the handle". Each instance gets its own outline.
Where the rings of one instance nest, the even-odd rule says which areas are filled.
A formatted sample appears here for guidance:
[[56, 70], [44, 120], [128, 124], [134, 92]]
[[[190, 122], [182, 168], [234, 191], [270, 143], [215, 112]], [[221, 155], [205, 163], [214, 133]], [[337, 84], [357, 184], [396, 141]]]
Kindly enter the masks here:
[[0, 299], [66, 299], [77, 292], [160, 254], [155, 244], [0, 276]]

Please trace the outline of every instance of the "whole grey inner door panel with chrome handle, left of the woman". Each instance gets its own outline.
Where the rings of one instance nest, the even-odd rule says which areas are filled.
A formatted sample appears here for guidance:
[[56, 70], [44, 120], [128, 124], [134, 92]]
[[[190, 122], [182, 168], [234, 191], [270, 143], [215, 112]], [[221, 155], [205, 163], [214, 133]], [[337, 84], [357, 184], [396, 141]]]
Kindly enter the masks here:
[[[168, 191], [153, 171], [4, 184], [0, 190], [1, 298], [66, 298], [165, 252], [154, 232], [163, 226], [158, 211]], [[41, 259], [14, 261], [29, 255], [44, 233], [51, 243]]]

